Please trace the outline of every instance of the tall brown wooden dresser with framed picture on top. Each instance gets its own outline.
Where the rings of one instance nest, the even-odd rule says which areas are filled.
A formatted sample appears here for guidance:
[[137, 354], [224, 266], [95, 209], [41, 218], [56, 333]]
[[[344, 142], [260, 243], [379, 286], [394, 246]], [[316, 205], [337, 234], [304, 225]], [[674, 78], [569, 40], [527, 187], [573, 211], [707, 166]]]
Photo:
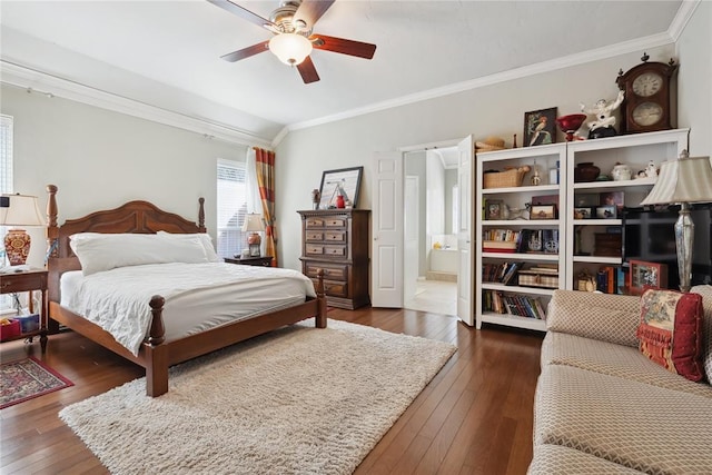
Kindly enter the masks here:
[[301, 271], [316, 285], [324, 269], [328, 305], [355, 309], [370, 304], [368, 296], [367, 209], [297, 211], [301, 215]]

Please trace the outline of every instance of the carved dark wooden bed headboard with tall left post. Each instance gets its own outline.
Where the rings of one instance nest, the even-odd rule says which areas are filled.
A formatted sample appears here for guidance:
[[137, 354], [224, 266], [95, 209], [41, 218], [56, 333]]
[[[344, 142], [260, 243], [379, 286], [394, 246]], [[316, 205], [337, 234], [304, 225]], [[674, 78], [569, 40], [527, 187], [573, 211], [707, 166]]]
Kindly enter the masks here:
[[82, 218], [67, 219], [57, 225], [57, 186], [48, 185], [47, 246], [51, 249], [47, 261], [49, 298], [59, 299], [59, 277], [67, 270], [79, 270], [79, 259], [69, 247], [69, 236], [76, 232], [177, 234], [205, 232], [205, 198], [198, 199], [198, 222], [164, 211], [148, 201], [129, 201], [115, 209], [96, 211]]

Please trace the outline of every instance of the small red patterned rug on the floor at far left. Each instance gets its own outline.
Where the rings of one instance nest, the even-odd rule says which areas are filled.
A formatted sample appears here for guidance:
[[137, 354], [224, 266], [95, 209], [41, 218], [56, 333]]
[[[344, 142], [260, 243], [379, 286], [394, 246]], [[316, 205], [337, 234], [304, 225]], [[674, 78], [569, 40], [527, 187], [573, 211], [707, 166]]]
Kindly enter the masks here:
[[0, 365], [0, 409], [73, 386], [73, 383], [44, 365], [29, 358]]

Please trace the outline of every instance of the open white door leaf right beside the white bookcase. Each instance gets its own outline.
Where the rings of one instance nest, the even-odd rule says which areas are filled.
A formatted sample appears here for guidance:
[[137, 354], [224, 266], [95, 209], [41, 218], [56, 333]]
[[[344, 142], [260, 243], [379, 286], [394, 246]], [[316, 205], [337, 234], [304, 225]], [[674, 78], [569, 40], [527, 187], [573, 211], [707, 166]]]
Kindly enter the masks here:
[[457, 317], [465, 324], [473, 326], [474, 306], [472, 287], [474, 279], [473, 243], [473, 176], [474, 176], [474, 142], [472, 136], [457, 144], [457, 191], [459, 217], [457, 219], [457, 253], [459, 268], [457, 271]]

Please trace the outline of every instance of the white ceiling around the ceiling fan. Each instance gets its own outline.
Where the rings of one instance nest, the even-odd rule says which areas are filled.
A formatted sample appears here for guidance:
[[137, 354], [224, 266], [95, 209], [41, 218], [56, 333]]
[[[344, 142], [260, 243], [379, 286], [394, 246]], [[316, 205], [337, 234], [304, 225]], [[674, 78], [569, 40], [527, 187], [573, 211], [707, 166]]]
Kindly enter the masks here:
[[[265, 18], [278, 6], [234, 1]], [[3, 0], [0, 53], [6, 70], [19, 67], [26, 78], [69, 79], [273, 141], [285, 127], [466, 89], [533, 65], [670, 42], [685, 9], [690, 2], [337, 0], [315, 32], [375, 43], [375, 57], [315, 50], [322, 80], [304, 85], [269, 52], [221, 60], [270, 33], [207, 1]]]

